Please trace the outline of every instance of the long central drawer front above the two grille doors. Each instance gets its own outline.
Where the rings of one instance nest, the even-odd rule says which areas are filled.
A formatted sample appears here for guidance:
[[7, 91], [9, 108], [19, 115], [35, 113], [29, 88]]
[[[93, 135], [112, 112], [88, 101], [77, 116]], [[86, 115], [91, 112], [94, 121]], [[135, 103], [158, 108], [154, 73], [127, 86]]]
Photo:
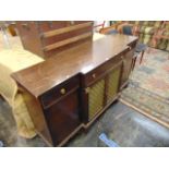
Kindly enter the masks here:
[[109, 60], [108, 62], [99, 65], [95, 70], [90, 71], [89, 73], [83, 76], [83, 85], [84, 87], [92, 85], [97, 80], [101, 79], [112, 67], [114, 67], [121, 60], [120, 56], [117, 56]]

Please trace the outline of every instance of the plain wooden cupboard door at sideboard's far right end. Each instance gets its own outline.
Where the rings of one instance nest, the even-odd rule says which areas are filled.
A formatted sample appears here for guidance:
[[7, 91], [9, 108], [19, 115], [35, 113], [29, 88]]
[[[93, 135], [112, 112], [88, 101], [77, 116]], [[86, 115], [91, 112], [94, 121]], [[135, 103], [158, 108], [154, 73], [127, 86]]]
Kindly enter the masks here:
[[123, 86], [126, 81], [129, 80], [131, 68], [132, 68], [132, 59], [134, 56], [134, 49], [128, 51], [123, 56], [123, 72], [122, 72], [122, 80], [121, 80], [121, 86]]

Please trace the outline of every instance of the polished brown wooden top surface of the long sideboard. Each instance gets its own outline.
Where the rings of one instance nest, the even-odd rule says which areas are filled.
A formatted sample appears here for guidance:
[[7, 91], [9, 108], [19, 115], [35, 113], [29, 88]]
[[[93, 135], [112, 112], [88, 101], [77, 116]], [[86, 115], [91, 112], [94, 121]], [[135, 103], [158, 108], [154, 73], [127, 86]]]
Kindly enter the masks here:
[[15, 72], [12, 77], [38, 97], [79, 73], [88, 73], [124, 51], [135, 40], [135, 36], [120, 34], [107, 35], [95, 41], [88, 40], [57, 53], [45, 62]]

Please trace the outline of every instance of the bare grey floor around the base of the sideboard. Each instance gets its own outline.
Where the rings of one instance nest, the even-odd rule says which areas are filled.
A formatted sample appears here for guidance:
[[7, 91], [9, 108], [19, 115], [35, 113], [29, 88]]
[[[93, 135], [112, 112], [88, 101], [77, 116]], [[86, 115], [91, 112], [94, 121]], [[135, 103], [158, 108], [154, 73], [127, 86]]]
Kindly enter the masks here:
[[[101, 133], [122, 147], [169, 146], [169, 129], [134, 109], [121, 104], [113, 104], [99, 120], [73, 137], [65, 146], [69, 147], [102, 147], [106, 146], [98, 137]], [[0, 140], [9, 147], [44, 147], [45, 142], [36, 136], [25, 140], [17, 135], [11, 108], [0, 98]]]

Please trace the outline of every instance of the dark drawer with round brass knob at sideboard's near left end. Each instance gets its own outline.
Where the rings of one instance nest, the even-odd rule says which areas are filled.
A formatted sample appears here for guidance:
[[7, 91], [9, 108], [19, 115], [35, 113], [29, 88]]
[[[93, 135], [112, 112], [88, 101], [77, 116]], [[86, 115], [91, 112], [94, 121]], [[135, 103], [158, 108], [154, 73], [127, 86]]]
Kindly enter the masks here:
[[41, 104], [44, 108], [49, 108], [50, 106], [62, 99], [64, 96], [77, 89], [79, 86], [79, 79], [72, 77], [65, 83], [50, 89], [48, 93], [41, 96]]

